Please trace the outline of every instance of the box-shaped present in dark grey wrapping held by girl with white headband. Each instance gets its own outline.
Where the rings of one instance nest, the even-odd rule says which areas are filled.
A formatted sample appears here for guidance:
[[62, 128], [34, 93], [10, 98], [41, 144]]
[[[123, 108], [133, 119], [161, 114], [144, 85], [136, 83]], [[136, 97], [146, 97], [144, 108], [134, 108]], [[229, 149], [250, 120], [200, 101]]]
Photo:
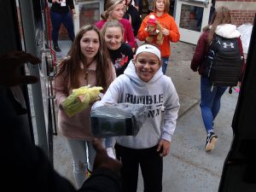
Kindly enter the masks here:
[[137, 136], [146, 120], [143, 104], [116, 103], [94, 108], [90, 113], [91, 130], [95, 137]]

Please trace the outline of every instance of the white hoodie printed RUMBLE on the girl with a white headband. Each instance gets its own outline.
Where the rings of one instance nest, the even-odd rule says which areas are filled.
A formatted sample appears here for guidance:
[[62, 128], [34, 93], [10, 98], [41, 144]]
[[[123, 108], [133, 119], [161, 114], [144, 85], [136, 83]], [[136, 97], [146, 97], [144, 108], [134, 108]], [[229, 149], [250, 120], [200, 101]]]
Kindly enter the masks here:
[[[127, 148], [151, 148], [161, 138], [171, 142], [180, 105], [172, 79], [162, 73], [161, 67], [146, 83], [138, 78], [131, 60], [125, 73], [114, 79], [102, 100], [92, 108], [100, 107], [106, 102], [143, 103], [148, 107], [148, 118], [137, 136], [116, 137], [119, 145]], [[164, 111], [161, 110], [163, 107]]]

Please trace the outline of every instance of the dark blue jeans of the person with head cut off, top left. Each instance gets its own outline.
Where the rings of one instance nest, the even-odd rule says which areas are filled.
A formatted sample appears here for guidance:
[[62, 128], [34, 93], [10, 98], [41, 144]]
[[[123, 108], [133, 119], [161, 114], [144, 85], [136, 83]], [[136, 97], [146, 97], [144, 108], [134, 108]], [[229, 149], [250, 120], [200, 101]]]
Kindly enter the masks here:
[[67, 28], [68, 37], [73, 41], [75, 38], [73, 31], [73, 18], [71, 13], [59, 14], [54, 11], [50, 11], [50, 20], [52, 25], [51, 38], [53, 42], [58, 41], [59, 30], [61, 23]]

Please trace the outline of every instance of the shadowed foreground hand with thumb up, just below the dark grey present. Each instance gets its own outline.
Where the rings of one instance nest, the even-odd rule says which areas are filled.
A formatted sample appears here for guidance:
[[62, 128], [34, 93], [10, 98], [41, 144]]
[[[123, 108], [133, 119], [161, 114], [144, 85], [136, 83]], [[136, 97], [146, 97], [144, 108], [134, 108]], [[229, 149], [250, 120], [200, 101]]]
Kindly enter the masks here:
[[102, 143], [98, 138], [94, 138], [92, 143], [93, 147], [96, 149], [93, 172], [96, 171], [96, 169], [104, 167], [119, 175], [122, 163], [119, 160], [113, 160], [112, 158], [108, 157], [106, 149], [103, 148]]

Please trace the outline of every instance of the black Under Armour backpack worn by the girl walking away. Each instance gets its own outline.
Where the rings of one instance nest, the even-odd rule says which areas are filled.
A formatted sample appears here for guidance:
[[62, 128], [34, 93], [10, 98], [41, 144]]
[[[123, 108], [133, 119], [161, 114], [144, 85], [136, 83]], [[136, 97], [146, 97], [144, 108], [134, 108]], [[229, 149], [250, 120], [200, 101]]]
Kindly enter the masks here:
[[204, 65], [212, 86], [236, 86], [241, 73], [243, 56], [237, 38], [214, 34]]

